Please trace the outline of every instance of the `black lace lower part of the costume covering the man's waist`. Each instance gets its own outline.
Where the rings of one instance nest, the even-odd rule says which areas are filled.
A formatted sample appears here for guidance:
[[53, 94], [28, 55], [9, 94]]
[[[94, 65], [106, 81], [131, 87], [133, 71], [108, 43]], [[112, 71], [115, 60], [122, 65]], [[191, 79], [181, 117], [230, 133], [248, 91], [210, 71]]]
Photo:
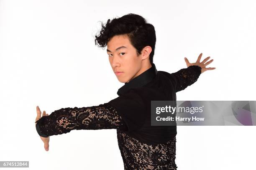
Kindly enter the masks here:
[[164, 144], [147, 145], [117, 129], [125, 170], [177, 170], [176, 137]]

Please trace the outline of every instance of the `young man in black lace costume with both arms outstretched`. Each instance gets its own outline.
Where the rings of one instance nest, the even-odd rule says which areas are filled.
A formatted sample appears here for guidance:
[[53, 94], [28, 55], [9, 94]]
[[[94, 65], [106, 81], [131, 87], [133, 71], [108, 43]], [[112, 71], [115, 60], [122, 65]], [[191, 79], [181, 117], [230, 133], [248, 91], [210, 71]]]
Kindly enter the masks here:
[[[128, 14], [102, 25], [95, 43], [107, 46], [110, 66], [118, 81], [118, 97], [98, 106], [62, 108], [50, 115], [39, 107], [36, 130], [49, 150], [49, 136], [79, 129], [117, 129], [125, 170], [176, 170], [176, 126], [151, 126], [151, 101], [176, 100], [176, 92], [197, 81], [213, 60], [195, 63], [169, 74], [153, 63], [154, 26], [140, 15]], [[97, 44], [96, 43], [96, 44]]]

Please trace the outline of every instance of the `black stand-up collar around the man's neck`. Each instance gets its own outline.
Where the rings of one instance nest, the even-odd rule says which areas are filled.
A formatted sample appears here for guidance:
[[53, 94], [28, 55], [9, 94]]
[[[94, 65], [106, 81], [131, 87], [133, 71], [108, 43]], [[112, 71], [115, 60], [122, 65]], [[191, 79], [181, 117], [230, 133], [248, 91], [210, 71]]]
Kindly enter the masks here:
[[121, 94], [125, 94], [125, 92], [127, 92], [131, 88], [142, 87], [152, 81], [157, 75], [157, 70], [154, 63], [151, 63], [151, 65], [152, 67], [150, 67], [140, 75], [136, 76], [135, 78], [131, 79], [128, 83], [125, 83], [125, 85], [118, 89], [118, 96], [120, 96]]

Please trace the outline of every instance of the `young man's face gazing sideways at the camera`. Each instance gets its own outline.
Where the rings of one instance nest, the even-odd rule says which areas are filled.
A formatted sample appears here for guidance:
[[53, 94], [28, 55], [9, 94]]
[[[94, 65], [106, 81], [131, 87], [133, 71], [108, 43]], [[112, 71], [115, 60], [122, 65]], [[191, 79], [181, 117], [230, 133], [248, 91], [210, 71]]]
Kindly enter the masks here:
[[137, 56], [127, 36], [113, 36], [107, 47], [108, 59], [118, 81], [126, 83], [141, 74], [142, 57]]

